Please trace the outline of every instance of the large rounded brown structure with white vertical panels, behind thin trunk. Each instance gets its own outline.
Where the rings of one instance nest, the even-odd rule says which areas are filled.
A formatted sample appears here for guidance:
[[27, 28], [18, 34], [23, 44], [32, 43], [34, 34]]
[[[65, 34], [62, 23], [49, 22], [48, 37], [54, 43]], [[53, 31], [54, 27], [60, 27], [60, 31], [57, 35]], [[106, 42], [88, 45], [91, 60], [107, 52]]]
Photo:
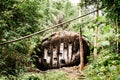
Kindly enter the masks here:
[[[84, 61], [90, 49], [83, 37]], [[34, 63], [40, 70], [74, 66], [80, 63], [79, 34], [69, 31], [53, 33], [37, 45], [32, 53]]]

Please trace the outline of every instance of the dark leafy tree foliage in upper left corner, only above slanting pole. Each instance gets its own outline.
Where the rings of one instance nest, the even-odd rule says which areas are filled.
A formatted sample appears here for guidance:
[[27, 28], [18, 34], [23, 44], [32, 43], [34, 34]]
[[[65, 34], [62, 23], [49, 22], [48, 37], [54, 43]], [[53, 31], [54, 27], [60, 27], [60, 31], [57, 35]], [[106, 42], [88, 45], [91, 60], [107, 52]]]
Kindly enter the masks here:
[[[37, 12], [37, 2], [34, 1], [1, 1], [1, 25], [2, 36], [7, 32], [8, 35], [13, 32], [13, 35], [17, 37], [16, 34], [26, 35], [25, 31], [34, 32], [36, 26], [38, 26], [39, 14]], [[4, 32], [3, 32], [4, 31]], [[19, 37], [18, 35], [18, 37]], [[6, 37], [7, 37], [6, 36]], [[5, 37], [5, 38], [6, 38]], [[9, 39], [7, 39], [9, 40]]]

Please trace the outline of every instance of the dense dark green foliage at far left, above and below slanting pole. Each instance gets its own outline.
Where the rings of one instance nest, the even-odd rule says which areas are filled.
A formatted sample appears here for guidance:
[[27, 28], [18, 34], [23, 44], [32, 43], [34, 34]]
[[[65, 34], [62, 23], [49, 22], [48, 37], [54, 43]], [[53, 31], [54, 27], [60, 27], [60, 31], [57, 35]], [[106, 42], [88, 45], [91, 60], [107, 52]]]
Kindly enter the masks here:
[[[0, 1], [0, 43], [31, 34], [37, 29], [40, 18], [39, 3], [34, 0]], [[33, 39], [34, 40], [34, 39]], [[32, 39], [2, 45], [0, 75], [17, 75], [24, 71], [26, 54], [30, 51]], [[28, 58], [27, 58], [28, 59]]]

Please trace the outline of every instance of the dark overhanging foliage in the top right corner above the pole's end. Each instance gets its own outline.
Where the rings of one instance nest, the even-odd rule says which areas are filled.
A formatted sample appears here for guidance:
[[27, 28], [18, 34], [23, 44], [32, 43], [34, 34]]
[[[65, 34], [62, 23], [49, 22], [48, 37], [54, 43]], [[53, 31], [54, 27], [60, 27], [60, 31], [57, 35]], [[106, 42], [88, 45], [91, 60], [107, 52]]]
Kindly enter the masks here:
[[119, 0], [82, 0], [83, 6], [90, 6], [94, 5], [95, 8], [103, 8], [105, 13], [107, 13], [107, 18], [116, 23], [116, 20], [118, 22], [118, 25], [120, 25], [120, 1]]

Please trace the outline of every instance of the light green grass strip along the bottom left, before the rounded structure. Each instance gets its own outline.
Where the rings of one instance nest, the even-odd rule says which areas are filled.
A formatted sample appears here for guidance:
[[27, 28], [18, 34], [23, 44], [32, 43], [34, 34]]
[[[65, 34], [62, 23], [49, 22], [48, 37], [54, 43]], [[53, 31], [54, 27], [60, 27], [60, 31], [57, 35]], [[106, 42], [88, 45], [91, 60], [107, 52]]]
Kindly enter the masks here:
[[22, 73], [15, 76], [1, 76], [0, 80], [70, 80], [66, 77], [66, 73], [63, 71], [58, 70], [51, 70], [48, 72], [42, 72], [42, 73], [34, 73], [34, 72], [28, 72], [28, 73]]

